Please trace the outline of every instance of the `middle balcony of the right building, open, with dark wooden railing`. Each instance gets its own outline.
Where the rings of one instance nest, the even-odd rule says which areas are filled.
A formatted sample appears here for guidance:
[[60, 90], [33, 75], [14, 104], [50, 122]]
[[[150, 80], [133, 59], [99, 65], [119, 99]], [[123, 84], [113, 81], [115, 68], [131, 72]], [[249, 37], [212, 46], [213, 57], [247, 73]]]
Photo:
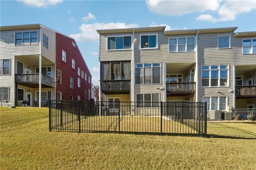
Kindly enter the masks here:
[[195, 93], [196, 82], [166, 83], [166, 96], [187, 96]]

